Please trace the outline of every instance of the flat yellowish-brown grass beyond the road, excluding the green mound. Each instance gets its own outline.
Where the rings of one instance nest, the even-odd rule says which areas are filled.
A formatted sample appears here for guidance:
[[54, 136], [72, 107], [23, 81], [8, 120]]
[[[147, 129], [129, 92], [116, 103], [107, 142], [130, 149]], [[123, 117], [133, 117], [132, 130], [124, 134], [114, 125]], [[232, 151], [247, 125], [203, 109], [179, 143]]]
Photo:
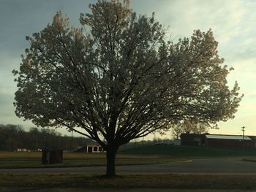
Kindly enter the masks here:
[[[104, 166], [105, 153], [64, 153], [63, 164], [41, 165], [40, 152], [0, 152], [0, 169], [61, 166]], [[165, 164], [184, 158], [159, 158], [157, 155], [118, 154], [116, 165]]]

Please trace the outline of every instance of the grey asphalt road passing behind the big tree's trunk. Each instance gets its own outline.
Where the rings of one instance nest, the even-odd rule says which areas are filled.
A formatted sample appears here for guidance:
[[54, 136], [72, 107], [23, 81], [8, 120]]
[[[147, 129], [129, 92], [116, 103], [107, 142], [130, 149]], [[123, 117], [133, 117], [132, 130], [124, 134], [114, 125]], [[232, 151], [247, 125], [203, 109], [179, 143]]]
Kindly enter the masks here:
[[[0, 169], [0, 173], [105, 173], [105, 166], [38, 168], [38, 169]], [[121, 173], [208, 173], [208, 174], [256, 174], [256, 163], [241, 161], [238, 158], [193, 158], [191, 161], [173, 164], [116, 166]]]

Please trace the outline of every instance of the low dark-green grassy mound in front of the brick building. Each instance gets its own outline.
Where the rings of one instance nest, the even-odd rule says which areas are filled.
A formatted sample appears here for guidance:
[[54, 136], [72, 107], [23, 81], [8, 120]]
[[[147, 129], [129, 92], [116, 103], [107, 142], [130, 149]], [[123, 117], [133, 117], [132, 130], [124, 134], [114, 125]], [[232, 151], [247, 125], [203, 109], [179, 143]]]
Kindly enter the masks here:
[[228, 158], [228, 157], [256, 157], [256, 150], [224, 150], [207, 147], [185, 147], [172, 145], [152, 145], [124, 150], [122, 154], [162, 155], [172, 158]]

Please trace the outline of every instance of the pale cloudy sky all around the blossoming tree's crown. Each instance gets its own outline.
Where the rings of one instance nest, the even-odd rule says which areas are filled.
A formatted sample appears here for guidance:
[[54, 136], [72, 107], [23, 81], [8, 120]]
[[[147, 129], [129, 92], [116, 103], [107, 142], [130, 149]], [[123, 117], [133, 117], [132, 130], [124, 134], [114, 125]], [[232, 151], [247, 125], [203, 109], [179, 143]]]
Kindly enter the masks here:
[[[14, 93], [17, 90], [12, 69], [18, 69], [20, 55], [29, 47], [25, 37], [52, 23], [59, 10], [68, 15], [71, 26], [80, 26], [80, 12], [90, 12], [94, 0], [0, 0], [0, 124], [34, 126], [15, 115]], [[256, 135], [256, 1], [254, 0], [130, 0], [130, 7], [141, 15], [151, 16], [167, 29], [167, 38], [176, 41], [190, 37], [194, 30], [214, 32], [219, 55], [235, 70], [227, 77], [244, 93], [236, 118], [219, 122], [211, 134]], [[66, 133], [64, 130], [57, 131]], [[163, 138], [170, 138], [166, 134]]]

